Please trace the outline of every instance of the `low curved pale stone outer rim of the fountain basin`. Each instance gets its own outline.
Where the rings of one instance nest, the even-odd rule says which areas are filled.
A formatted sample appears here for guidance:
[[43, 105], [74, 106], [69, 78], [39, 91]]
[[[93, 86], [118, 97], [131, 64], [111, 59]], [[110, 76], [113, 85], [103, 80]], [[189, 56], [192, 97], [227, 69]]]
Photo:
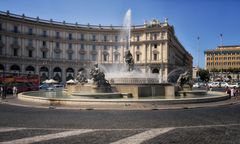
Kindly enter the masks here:
[[131, 106], [153, 106], [153, 105], [162, 105], [162, 104], [189, 104], [189, 103], [208, 103], [215, 102], [221, 100], [227, 100], [230, 97], [223, 92], [209, 92], [208, 95], [211, 96], [203, 96], [203, 97], [195, 97], [195, 98], [168, 98], [168, 99], [152, 99], [151, 97], [145, 99], [86, 99], [81, 97], [72, 98], [47, 98], [47, 97], [39, 97], [33, 96], [31, 94], [38, 92], [23, 92], [18, 95], [18, 99], [23, 101], [37, 102], [40, 104], [47, 105], [63, 105], [63, 106], [90, 106], [90, 107], [121, 107], [124, 105]]

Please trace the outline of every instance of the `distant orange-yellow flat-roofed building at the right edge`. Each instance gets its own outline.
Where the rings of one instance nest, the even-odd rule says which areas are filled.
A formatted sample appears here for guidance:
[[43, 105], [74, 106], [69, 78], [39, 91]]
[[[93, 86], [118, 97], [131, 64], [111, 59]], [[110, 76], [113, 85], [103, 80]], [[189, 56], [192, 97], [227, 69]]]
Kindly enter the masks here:
[[212, 72], [216, 78], [239, 79], [240, 72], [240, 45], [218, 46], [212, 50], [206, 50], [205, 69]]

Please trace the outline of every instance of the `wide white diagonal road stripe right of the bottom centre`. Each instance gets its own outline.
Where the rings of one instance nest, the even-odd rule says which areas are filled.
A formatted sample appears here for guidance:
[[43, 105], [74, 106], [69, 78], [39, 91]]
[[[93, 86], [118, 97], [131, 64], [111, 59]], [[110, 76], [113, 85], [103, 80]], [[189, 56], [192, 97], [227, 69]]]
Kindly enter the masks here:
[[173, 129], [174, 128], [151, 129], [151, 130], [127, 137], [125, 139], [121, 139], [111, 144], [140, 144], [146, 140], [152, 139], [158, 135], [164, 134]]

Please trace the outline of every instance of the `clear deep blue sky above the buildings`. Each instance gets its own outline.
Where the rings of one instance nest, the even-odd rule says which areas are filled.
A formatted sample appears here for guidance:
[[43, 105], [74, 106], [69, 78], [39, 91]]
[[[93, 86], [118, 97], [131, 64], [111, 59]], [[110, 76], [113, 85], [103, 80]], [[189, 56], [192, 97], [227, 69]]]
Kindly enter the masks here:
[[[122, 25], [128, 9], [132, 24], [168, 18], [175, 35], [204, 68], [204, 51], [240, 45], [239, 0], [0, 0], [0, 11], [79, 24]], [[200, 38], [198, 40], [198, 37]]]

